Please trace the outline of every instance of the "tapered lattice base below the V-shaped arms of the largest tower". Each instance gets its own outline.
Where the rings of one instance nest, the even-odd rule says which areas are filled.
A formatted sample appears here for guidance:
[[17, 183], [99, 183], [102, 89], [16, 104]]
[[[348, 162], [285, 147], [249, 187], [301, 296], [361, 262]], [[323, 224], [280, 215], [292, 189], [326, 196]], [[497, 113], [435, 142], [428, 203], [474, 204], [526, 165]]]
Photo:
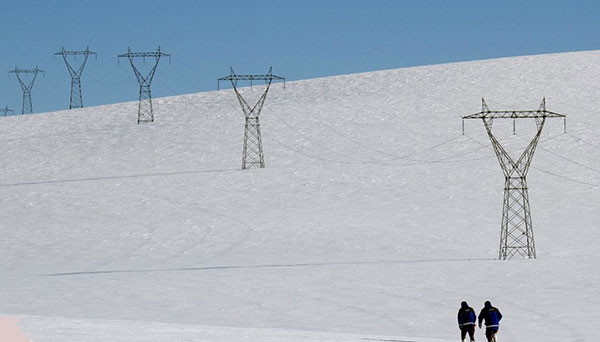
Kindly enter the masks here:
[[515, 255], [535, 259], [535, 242], [525, 177], [507, 177], [500, 234], [500, 259]]

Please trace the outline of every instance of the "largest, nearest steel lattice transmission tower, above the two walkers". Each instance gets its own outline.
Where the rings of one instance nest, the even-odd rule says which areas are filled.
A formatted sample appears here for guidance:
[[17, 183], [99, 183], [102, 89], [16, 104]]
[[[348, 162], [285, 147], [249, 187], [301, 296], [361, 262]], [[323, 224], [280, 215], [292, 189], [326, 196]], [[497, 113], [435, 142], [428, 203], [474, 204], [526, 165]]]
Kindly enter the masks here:
[[[500, 167], [504, 172], [504, 205], [502, 208], [499, 258], [506, 260], [515, 255], [520, 255], [523, 258], [535, 259], [535, 242], [533, 240], [529, 194], [527, 191], [527, 172], [546, 119], [564, 118], [566, 129], [566, 115], [547, 111], [545, 98], [538, 110], [492, 111], [488, 108], [484, 99], [481, 100], [481, 104], [481, 112], [466, 115], [462, 118], [463, 120], [481, 119], [483, 121], [494, 152], [500, 162]], [[494, 119], [535, 119], [537, 132], [519, 159], [514, 160], [511, 158], [492, 134]]]

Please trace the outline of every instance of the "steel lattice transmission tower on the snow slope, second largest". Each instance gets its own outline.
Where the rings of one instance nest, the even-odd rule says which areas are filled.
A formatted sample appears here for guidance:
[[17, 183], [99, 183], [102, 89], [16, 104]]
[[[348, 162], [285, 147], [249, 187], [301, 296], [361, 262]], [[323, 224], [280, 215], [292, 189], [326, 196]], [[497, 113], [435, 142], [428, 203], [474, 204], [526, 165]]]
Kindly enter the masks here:
[[[260, 96], [254, 106], [250, 106], [248, 102], [240, 94], [237, 83], [238, 81], [265, 81], [266, 88], [263, 94]], [[284, 80], [285, 77], [273, 75], [273, 68], [270, 67], [266, 75], [238, 75], [230, 68], [229, 76], [221, 77], [217, 80], [217, 87], [219, 87], [220, 81], [231, 81], [235, 96], [242, 107], [244, 116], [246, 118], [246, 128], [244, 129], [244, 150], [242, 154], [242, 170], [250, 169], [253, 167], [265, 167], [265, 158], [262, 149], [262, 137], [260, 134], [260, 122], [259, 116], [262, 110], [267, 93], [271, 87], [273, 80]]]

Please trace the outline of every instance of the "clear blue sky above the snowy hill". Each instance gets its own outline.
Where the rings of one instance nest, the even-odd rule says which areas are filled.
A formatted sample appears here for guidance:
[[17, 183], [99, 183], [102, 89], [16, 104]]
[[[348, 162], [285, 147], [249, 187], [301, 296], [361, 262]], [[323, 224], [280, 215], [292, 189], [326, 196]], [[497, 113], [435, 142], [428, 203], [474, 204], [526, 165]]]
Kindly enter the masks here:
[[17, 113], [15, 66], [46, 71], [32, 90], [34, 112], [68, 108], [70, 77], [53, 56], [62, 46], [98, 53], [82, 77], [85, 106], [137, 99], [127, 60], [117, 64], [128, 46], [172, 54], [154, 97], [214, 90], [229, 66], [272, 65], [297, 80], [600, 47], [600, 1], [587, 0], [3, 0], [0, 11], [0, 107]]

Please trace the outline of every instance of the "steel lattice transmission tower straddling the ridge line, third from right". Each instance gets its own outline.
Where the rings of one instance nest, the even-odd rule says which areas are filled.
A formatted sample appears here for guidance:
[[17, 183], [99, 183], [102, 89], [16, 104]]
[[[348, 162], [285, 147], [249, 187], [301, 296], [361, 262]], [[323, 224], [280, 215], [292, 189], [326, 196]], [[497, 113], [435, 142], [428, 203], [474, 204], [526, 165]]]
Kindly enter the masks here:
[[[154, 73], [156, 72], [156, 67], [158, 66], [158, 62], [161, 57], [169, 57], [169, 62], [171, 60], [171, 55], [163, 53], [160, 51], [160, 46], [156, 50], [156, 52], [131, 52], [130, 48], [127, 48], [127, 53], [119, 55], [119, 59], [121, 57], [127, 57], [129, 59], [129, 63], [131, 63], [131, 67], [133, 68], [133, 72], [135, 73], [135, 77], [140, 84], [140, 101], [138, 106], [138, 124], [142, 122], [154, 122], [154, 113], [152, 112], [152, 93], [150, 92], [150, 83], [152, 83], [152, 78], [154, 77]], [[147, 57], [154, 58], [154, 67], [150, 69], [148, 75], [144, 76], [142, 73], [136, 68], [133, 63], [135, 58], [143, 58], [144, 63], [146, 62]]]

